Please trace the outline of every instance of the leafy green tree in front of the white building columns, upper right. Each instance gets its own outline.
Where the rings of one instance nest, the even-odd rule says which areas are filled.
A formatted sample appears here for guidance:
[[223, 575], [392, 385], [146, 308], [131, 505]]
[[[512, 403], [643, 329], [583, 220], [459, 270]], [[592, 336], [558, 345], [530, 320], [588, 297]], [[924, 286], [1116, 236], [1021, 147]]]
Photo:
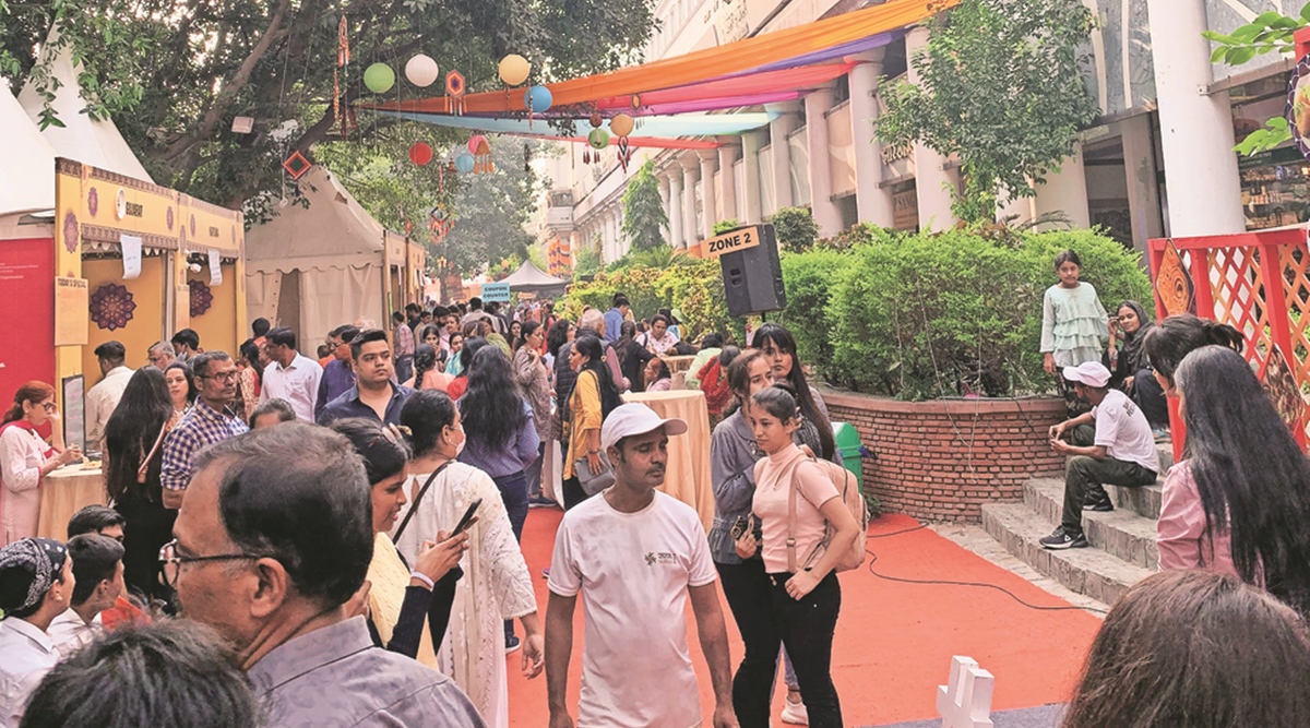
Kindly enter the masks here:
[[910, 59], [922, 85], [884, 88], [876, 134], [958, 156], [956, 217], [992, 220], [1000, 190], [1032, 196], [1099, 114], [1079, 72], [1094, 16], [1079, 0], [964, 0], [930, 22]]

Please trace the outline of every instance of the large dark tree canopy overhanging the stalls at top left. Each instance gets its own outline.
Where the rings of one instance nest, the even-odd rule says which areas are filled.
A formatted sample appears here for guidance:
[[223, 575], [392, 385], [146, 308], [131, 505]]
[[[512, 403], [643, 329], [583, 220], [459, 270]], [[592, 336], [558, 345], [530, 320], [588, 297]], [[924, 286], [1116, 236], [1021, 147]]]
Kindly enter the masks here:
[[[402, 73], [424, 52], [443, 72], [460, 69], [470, 92], [500, 88], [496, 63], [517, 52], [533, 63], [533, 82], [610, 71], [641, 52], [654, 25], [648, 0], [0, 0], [0, 73], [14, 90], [29, 77], [50, 93], [38, 48], [51, 27], [84, 65], [81, 85], [93, 117], [111, 117], [147, 170], [162, 185], [217, 204], [280, 196], [282, 160], [292, 149], [341, 139], [333, 110], [338, 24], [345, 17], [350, 64], [341, 76], [342, 109], [372, 101], [363, 69], [388, 63], [397, 85], [383, 100], [439, 96]], [[579, 31], [586, 29], [586, 31]], [[50, 45], [47, 45], [48, 47]], [[54, 48], [54, 50], [58, 50]], [[47, 96], [48, 98], [48, 96]], [[233, 117], [253, 117], [249, 135]], [[60, 123], [50, 113], [45, 123]], [[274, 134], [284, 122], [292, 134]], [[351, 120], [347, 117], [347, 120]], [[359, 111], [350, 143], [396, 158], [407, 124]], [[466, 135], [426, 130], [434, 147]], [[270, 195], [261, 196], [258, 192]], [[258, 216], [263, 208], [252, 209]]]

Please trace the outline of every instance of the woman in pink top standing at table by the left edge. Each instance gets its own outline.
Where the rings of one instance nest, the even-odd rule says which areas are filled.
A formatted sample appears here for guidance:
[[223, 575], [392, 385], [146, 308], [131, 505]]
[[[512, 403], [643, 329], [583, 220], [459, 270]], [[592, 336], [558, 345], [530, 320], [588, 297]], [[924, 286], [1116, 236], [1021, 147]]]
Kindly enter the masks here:
[[[37, 433], [46, 423], [54, 429], [54, 448]], [[0, 546], [37, 536], [41, 482], [80, 457], [77, 446], [64, 449], [55, 388], [39, 381], [20, 386], [0, 420]]]

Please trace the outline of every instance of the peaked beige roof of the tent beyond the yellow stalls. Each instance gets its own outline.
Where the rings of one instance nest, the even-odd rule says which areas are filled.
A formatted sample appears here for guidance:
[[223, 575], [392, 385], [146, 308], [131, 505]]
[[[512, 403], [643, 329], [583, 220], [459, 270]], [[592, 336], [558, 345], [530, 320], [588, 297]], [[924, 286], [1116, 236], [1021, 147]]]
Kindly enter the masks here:
[[309, 203], [292, 202], [246, 233], [246, 262], [262, 271], [383, 266], [383, 225], [335, 174], [314, 165], [300, 178]]

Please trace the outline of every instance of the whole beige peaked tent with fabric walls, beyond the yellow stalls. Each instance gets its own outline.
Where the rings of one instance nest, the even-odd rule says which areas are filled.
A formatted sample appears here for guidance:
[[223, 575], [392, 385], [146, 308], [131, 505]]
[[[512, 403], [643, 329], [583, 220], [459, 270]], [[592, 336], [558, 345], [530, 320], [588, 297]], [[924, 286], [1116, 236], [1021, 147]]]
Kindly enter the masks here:
[[322, 166], [300, 178], [300, 191], [308, 208], [280, 207], [246, 233], [246, 313], [291, 326], [312, 354], [342, 323], [385, 326], [385, 230]]

